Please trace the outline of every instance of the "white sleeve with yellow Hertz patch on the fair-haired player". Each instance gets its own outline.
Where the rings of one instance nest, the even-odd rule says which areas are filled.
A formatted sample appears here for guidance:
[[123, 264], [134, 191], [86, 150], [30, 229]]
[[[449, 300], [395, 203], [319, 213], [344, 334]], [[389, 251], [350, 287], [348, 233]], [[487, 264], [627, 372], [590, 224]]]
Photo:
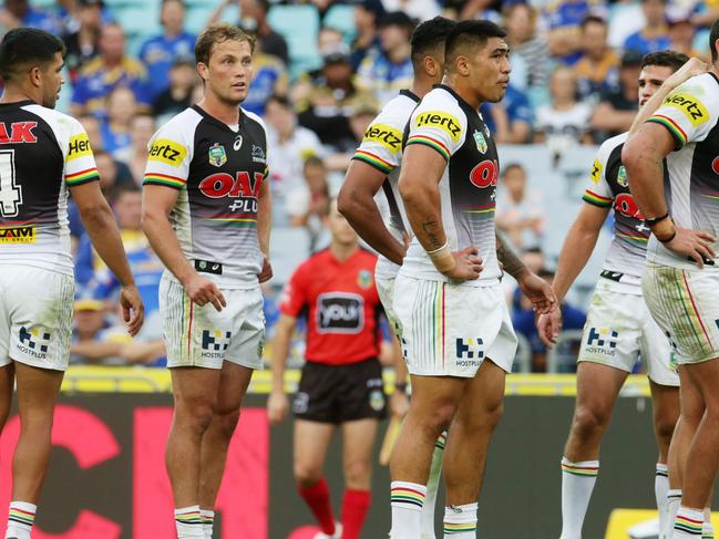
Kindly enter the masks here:
[[187, 129], [171, 121], [153, 135], [147, 144], [148, 156], [143, 185], [164, 185], [182, 190], [187, 185], [192, 135]]

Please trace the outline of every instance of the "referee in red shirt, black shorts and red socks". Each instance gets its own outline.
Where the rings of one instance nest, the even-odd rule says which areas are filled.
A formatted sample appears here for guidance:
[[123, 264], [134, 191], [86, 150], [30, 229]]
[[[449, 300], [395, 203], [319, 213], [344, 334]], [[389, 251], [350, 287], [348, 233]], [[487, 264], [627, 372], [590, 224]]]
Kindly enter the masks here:
[[[292, 402], [295, 479], [317, 518], [319, 538], [357, 539], [371, 502], [371, 457], [379, 419], [386, 414], [379, 363], [374, 287], [377, 257], [359, 247], [357, 232], [330, 203], [329, 249], [299, 266], [285, 289], [273, 345], [273, 391], [267, 401], [271, 424], [289, 410], [285, 362], [299, 317], [307, 321], [302, 377]], [[341, 525], [335, 522], [322, 467], [338, 429], [342, 435], [345, 498]]]

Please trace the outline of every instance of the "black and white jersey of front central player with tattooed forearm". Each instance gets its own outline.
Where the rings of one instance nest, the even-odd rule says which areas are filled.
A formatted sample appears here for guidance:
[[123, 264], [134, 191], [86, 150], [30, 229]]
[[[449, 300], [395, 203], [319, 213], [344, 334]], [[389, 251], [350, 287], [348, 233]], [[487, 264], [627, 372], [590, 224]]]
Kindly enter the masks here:
[[[445, 85], [424, 96], [408, 125], [407, 145], [422, 144], [446, 160], [439, 184], [442, 225], [452, 251], [476, 247], [484, 262], [471, 286], [486, 286], [500, 277], [494, 214], [500, 164], [494, 139], [480, 113]], [[404, 154], [407, 158], [407, 154]], [[446, 281], [414, 238], [403, 274]]]

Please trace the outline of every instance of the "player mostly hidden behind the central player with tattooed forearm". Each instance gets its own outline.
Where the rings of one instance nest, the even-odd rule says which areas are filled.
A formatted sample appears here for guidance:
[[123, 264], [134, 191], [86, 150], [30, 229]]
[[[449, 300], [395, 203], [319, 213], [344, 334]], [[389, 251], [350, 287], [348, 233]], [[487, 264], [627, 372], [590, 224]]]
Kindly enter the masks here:
[[[397, 97], [390, 100], [372, 121], [352, 156], [337, 199], [340, 211], [352, 228], [380, 253], [374, 269], [374, 282], [392, 328], [397, 326], [392, 310], [392, 289], [407, 249], [405, 242], [411, 234], [397, 187], [402, 159], [402, 137], [414, 107], [434, 84], [442, 81], [444, 41], [454, 25], [449, 19], [435, 17], [414, 29], [411, 39], [414, 71], [412, 87], [402, 90]], [[380, 189], [386, 197], [386, 215], [380, 214], [374, 200], [376, 196], [382, 196], [379, 195]], [[390, 405], [392, 413], [401, 418], [409, 408], [405, 393], [407, 366], [400, 346], [396, 348], [397, 374]], [[443, 450], [444, 436], [440, 436], [432, 457], [432, 473], [422, 509], [423, 539], [434, 538], [434, 501]]]

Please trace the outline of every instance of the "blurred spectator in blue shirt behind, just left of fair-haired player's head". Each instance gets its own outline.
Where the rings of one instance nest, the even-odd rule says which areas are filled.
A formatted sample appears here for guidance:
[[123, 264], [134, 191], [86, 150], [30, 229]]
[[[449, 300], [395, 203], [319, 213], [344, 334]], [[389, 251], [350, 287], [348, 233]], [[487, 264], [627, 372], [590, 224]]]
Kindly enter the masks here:
[[150, 38], [140, 50], [153, 97], [170, 86], [170, 70], [177, 60], [192, 62], [195, 58], [196, 37], [184, 30], [185, 6], [181, 0], [163, 0], [160, 22], [163, 34]]

